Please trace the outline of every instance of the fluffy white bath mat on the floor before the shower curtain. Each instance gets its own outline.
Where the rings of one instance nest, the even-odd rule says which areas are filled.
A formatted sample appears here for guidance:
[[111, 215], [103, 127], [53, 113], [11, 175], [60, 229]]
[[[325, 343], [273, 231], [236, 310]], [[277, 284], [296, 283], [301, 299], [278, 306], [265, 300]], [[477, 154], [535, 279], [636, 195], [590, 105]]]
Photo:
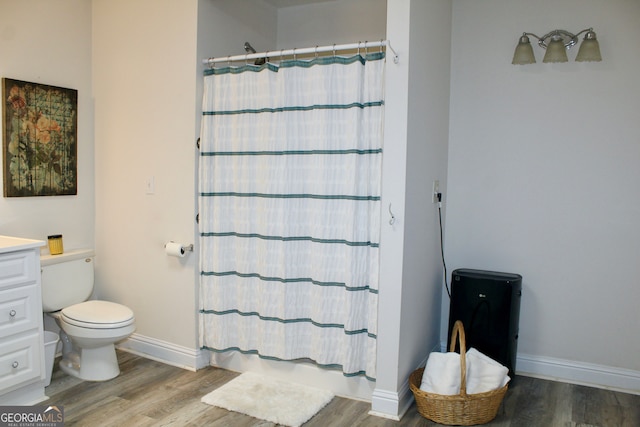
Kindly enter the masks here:
[[245, 372], [201, 400], [283, 426], [297, 427], [333, 399], [333, 393]]

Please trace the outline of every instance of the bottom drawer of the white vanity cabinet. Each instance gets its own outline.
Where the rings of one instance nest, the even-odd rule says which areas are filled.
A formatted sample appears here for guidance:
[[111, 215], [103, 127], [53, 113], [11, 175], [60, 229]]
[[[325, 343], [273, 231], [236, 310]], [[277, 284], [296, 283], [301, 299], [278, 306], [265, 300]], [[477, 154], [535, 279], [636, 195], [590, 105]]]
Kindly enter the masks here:
[[40, 379], [41, 346], [37, 332], [0, 340], [0, 384], [3, 390]]

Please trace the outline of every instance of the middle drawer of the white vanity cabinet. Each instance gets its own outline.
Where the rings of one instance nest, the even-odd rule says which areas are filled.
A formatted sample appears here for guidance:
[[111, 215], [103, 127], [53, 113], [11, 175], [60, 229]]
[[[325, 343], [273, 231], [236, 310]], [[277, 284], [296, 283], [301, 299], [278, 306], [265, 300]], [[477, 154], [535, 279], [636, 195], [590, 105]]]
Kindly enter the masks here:
[[36, 285], [0, 291], [0, 336], [36, 329], [42, 316], [39, 298]]

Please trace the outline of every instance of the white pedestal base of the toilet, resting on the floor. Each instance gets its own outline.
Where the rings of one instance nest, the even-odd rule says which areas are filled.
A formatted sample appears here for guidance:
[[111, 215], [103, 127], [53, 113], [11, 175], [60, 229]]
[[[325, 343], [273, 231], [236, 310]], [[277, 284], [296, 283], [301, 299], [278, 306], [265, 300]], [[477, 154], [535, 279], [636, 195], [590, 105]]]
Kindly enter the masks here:
[[[76, 348], [77, 349], [77, 348]], [[65, 373], [85, 381], [107, 381], [120, 375], [113, 344], [81, 348], [64, 355], [59, 366]]]

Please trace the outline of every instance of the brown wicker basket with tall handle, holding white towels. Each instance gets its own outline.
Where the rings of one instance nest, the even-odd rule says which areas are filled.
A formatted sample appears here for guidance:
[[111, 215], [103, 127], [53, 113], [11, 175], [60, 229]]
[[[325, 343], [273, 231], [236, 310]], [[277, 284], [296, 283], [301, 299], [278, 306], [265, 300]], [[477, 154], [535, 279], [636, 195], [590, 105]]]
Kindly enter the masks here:
[[460, 394], [446, 396], [420, 390], [424, 368], [414, 371], [409, 377], [409, 387], [413, 392], [418, 412], [425, 418], [439, 424], [470, 426], [485, 424], [496, 417], [500, 403], [508, 385], [497, 390], [478, 394], [467, 394], [467, 351], [464, 327], [456, 321], [451, 332], [449, 351], [455, 351], [456, 339], [460, 343]]

